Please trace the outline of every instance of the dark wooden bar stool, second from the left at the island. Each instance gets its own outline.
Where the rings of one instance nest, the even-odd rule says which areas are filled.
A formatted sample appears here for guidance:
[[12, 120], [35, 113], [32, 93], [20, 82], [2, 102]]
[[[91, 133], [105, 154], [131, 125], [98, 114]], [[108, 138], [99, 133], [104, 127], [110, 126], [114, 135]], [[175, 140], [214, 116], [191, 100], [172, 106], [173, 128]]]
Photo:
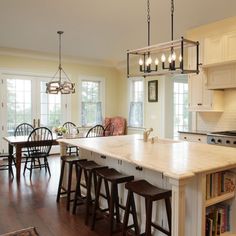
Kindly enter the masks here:
[[[94, 191], [96, 192], [97, 187], [97, 177], [95, 174], [96, 170], [106, 169], [107, 166], [98, 165], [94, 161], [87, 161], [87, 162], [78, 162], [78, 177], [77, 177], [77, 184], [76, 184], [76, 191], [75, 191], [75, 198], [74, 198], [74, 205], [73, 205], [73, 214], [76, 213], [76, 207], [81, 204], [78, 200], [84, 199], [81, 196], [81, 189], [80, 186], [84, 187], [87, 191], [85, 196], [85, 204], [86, 204], [86, 213], [85, 213], [85, 224], [88, 224], [89, 220], [89, 211], [92, 207], [93, 199], [92, 199], [92, 179], [94, 184]], [[85, 177], [85, 185], [81, 183], [81, 176], [84, 173]]]

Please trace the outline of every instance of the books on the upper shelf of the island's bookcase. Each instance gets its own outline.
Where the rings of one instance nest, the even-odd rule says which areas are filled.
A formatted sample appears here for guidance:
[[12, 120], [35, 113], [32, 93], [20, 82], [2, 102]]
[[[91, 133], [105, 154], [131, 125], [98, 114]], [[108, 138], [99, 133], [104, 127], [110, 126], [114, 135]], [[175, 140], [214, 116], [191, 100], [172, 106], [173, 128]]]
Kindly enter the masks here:
[[206, 176], [206, 199], [235, 190], [236, 174], [231, 171], [216, 172]]

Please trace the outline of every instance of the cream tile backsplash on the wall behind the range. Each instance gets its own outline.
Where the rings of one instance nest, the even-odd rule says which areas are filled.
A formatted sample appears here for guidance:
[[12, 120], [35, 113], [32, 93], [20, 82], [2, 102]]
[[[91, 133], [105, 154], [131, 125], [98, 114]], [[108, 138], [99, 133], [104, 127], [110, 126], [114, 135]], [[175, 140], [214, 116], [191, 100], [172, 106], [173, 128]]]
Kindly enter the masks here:
[[208, 131], [236, 130], [236, 89], [224, 91], [223, 113], [197, 113], [197, 129]]

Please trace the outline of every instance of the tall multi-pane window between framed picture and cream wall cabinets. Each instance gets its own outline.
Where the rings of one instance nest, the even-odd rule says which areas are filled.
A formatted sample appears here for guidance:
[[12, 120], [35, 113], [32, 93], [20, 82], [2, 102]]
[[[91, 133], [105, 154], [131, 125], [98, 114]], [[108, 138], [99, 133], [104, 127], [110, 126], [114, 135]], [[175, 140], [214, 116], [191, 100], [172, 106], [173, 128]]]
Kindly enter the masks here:
[[174, 81], [174, 134], [177, 138], [178, 131], [189, 130], [188, 112], [188, 81], [187, 79], [175, 79]]

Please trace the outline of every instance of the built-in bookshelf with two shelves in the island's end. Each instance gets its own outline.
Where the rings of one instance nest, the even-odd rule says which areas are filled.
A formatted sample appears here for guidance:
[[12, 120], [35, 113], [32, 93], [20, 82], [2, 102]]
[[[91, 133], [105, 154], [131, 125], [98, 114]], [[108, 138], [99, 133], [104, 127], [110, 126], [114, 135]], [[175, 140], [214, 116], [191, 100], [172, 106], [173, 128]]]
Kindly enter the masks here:
[[236, 236], [235, 227], [232, 227], [235, 216], [231, 211], [235, 185], [235, 170], [206, 175], [205, 236]]

